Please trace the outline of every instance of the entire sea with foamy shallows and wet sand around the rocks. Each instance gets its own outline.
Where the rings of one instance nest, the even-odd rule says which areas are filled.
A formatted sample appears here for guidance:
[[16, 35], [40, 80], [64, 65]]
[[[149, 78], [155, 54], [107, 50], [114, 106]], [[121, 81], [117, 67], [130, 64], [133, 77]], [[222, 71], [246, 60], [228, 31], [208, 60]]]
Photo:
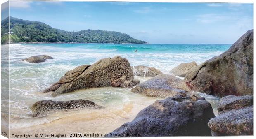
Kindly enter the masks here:
[[[92, 65], [102, 58], [121, 56], [131, 66], [155, 67], [165, 74], [180, 63], [204, 61], [218, 56], [231, 44], [10, 44], [10, 132], [88, 134], [109, 133], [130, 122], [138, 112], [162, 98], [130, 92], [130, 88], [90, 88], [52, 97], [42, 93], [59, 81], [67, 71], [79, 65]], [[44, 63], [21, 61], [34, 55], [49, 55]], [[149, 77], [135, 77], [141, 82]], [[183, 78], [181, 78], [183, 79]], [[205, 97], [216, 110], [220, 98], [195, 92]], [[42, 117], [32, 117], [30, 107], [39, 100], [67, 101], [85, 99], [104, 109], [55, 111]]]

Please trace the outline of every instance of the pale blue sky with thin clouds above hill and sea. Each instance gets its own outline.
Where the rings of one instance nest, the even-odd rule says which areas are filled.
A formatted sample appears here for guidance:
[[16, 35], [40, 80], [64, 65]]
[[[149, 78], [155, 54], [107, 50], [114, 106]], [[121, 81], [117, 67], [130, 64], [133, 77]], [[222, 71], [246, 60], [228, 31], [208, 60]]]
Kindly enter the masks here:
[[253, 29], [253, 4], [10, 1], [10, 16], [66, 31], [100, 29], [149, 43], [232, 44]]

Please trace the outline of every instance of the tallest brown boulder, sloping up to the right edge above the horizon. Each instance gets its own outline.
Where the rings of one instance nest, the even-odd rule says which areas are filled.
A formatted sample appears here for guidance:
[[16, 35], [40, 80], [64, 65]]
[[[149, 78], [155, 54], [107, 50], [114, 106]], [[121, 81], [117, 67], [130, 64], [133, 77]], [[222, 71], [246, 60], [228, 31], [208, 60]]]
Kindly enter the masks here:
[[220, 56], [193, 67], [184, 81], [194, 91], [217, 95], [253, 94], [253, 30]]

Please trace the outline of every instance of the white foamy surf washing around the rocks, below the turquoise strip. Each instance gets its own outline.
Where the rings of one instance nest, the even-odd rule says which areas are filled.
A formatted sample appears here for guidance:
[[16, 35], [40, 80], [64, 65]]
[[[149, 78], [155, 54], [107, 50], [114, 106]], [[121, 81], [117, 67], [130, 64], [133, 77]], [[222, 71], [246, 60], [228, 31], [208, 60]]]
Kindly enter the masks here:
[[[60, 44], [61, 45], [61, 44]], [[83, 44], [81, 44], [83, 45]], [[130, 65], [145, 65], [155, 67], [165, 74], [180, 63], [195, 61], [197, 64], [217, 56], [221, 51], [211, 53], [118, 53], [117, 49], [95, 49], [91, 47], [62, 48], [52, 47], [51, 44], [10, 44], [10, 99], [12, 118], [15, 126], [28, 127], [49, 123], [55, 118], [31, 118], [30, 107], [38, 100], [71, 100], [87, 99], [104, 106], [116, 106], [121, 102], [130, 102], [131, 94], [128, 88], [97, 88], [80, 90], [74, 93], [67, 93], [52, 97], [50, 93], [39, 93], [48, 88], [52, 83], [57, 82], [67, 71], [72, 70], [78, 65], [93, 64], [96, 61], [114, 56], [127, 58]], [[33, 55], [49, 55], [54, 59], [46, 60], [44, 63], [28, 63], [21, 61]], [[147, 70], [144, 71], [145, 74]], [[147, 77], [135, 77], [141, 82], [146, 81]], [[181, 78], [182, 79], [182, 78]], [[210, 98], [214, 100], [214, 98]], [[16, 112], [15, 112], [16, 111]], [[25, 119], [25, 120], [17, 120]], [[16, 120], [15, 120], [16, 119]], [[29, 120], [30, 122], [25, 122]]]

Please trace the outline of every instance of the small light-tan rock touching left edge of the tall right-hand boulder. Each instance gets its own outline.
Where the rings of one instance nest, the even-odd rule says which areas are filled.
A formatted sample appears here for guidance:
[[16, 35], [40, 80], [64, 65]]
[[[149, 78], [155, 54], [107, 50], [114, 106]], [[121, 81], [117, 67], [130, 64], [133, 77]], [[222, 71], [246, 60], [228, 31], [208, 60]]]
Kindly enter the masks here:
[[172, 73], [175, 76], [185, 77], [187, 75], [187, 72], [194, 66], [197, 66], [197, 63], [194, 61], [190, 63], [181, 63], [177, 67], [174, 67], [170, 71], [170, 73]]

